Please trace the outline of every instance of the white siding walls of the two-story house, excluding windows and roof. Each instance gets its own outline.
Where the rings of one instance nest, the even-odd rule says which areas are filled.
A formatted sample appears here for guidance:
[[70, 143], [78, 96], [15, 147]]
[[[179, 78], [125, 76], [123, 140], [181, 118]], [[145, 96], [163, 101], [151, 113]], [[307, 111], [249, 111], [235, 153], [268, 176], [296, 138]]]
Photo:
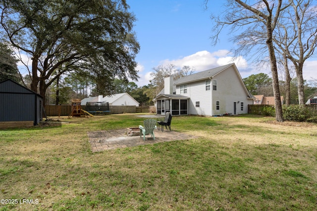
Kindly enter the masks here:
[[[213, 90], [213, 80], [216, 81], [216, 90]], [[210, 91], [206, 91], [208, 78], [203, 78], [200, 81], [187, 82], [186, 84], [176, 85], [176, 94], [189, 97], [188, 114], [193, 115], [220, 115], [225, 113], [234, 113], [234, 102], [236, 102], [236, 113], [247, 113], [247, 106], [253, 104], [252, 99], [248, 99], [248, 93], [244, 89], [244, 84], [240, 74], [235, 71], [233, 66], [214, 75], [210, 80]], [[184, 91], [186, 85], [187, 93]], [[220, 102], [219, 110], [216, 110], [216, 101]], [[243, 102], [243, 110], [241, 104]], [[199, 102], [199, 107], [196, 107], [196, 102]]]

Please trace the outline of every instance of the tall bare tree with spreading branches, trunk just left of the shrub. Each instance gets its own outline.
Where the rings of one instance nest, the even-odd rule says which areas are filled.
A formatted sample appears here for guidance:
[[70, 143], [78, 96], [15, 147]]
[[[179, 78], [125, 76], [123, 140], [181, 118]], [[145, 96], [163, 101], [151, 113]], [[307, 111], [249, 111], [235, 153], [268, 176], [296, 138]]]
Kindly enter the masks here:
[[[226, 25], [231, 26], [232, 33], [247, 34], [248, 38], [255, 39], [255, 43], [265, 43], [270, 61], [277, 121], [283, 121], [283, 113], [273, 45], [273, 31], [278, 22], [280, 12], [288, 6], [289, 4], [283, 4], [282, 0], [260, 0], [255, 4], [248, 4], [242, 0], [227, 0], [226, 11], [222, 12], [220, 16], [212, 16], [212, 19], [216, 23], [216, 27], [214, 28], [215, 35], [212, 37], [214, 43], [218, 41], [218, 36]], [[241, 29], [242, 33], [239, 31]], [[235, 37], [239, 38], [239, 36]], [[238, 45], [242, 46], [243, 42], [238, 43]], [[251, 52], [253, 47], [249, 46], [248, 50]]]

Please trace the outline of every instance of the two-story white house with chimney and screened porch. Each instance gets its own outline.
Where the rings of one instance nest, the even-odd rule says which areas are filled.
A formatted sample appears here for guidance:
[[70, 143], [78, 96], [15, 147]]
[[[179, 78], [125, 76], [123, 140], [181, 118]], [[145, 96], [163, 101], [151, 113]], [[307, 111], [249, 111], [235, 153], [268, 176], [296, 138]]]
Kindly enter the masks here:
[[157, 114], [224, 115], [248, 113], [254, 97], [248, 92], [234, 63], [212, 68], [173, 81], [153, 100]]

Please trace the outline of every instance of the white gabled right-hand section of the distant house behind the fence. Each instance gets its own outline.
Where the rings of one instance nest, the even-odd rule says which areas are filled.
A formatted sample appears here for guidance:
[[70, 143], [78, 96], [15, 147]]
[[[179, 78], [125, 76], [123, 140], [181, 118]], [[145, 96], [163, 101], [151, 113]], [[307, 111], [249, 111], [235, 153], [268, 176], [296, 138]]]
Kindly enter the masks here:
[[139, 102], [132, 98], [128, 93], [106, 96], [102, 99], [102, 102], [109, 103], [109, 106], [139, 106]]

